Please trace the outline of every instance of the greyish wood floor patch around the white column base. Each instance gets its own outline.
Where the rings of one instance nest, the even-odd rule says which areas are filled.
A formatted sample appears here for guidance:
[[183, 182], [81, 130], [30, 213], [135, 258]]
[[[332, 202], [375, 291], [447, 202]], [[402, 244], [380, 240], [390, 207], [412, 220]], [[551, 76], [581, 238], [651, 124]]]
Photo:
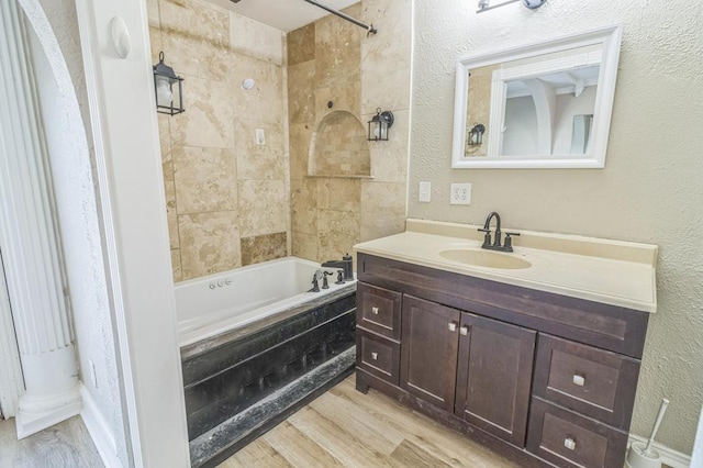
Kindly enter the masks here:
[[102, 467], [88, 430], [79, 416], [18, 441], [14, 420], [0, 421], [0, 467]]

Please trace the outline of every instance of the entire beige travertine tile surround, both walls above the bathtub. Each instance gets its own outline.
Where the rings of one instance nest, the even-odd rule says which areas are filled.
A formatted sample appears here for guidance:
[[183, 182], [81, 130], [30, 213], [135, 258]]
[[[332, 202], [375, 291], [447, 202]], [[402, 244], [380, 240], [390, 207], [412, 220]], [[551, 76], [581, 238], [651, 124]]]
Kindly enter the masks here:
[[[410, 1], [346, 9], [379, 27], [368, 37], [336, 16], [283, 35], [204, 0], [147, 7], [154, 62], [164, 51], [185, 78], [187, 111], [158, 116], [176, 281], [288, 254], [337, 258], [360, 241], [403, 231]], [[253, 90], [241, 89], [245, 78], [256, 80]], [[368, 143], [370, 167], [352, 169], [372, 178], [309, 176], [328, 101], [358, 121], [358, 135], [376, 108], [393, 111], [391, 140]], [[256, 144], [255, 129], [264, 129], [266, 145]]]

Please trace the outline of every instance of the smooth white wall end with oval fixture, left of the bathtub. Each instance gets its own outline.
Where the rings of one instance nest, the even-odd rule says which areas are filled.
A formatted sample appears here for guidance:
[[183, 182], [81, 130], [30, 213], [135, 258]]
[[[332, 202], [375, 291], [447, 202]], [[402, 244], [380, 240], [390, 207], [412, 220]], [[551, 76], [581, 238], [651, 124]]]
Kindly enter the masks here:
[[[189, 465], [146, 3], [76, 0], [135, 465]], [[118, 19], [118, 20], [115, 20]], [[121, 58], [111, 24], [131, 48]]]

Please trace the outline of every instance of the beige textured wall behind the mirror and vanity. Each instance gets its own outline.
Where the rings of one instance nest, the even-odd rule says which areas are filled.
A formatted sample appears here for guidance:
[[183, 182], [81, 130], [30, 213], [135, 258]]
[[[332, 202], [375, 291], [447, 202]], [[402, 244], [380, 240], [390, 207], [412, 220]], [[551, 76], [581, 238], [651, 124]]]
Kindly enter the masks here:
[[[476, 2], [415, 2], [409, 215], [638, 241], [660, 247], [659, 309], [650, 319], [632, 431], [691, 453], [703, 390], [703, 3], [549, 0], [475, 13]], [[590, 27], [624, 25], [604, 169], [451, 169], [455, 63], [469, 53]], [[417, 202], [417, 182], [433, 183]], [[473, 185], [470, 207], [449, 205], [449, 183]]]

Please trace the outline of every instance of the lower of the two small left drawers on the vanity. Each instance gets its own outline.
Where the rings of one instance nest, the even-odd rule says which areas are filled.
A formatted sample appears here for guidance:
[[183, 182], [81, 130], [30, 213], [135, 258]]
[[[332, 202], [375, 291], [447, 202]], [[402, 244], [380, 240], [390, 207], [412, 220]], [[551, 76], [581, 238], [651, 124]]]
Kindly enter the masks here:
[[400, 370], [400, 345], [357, 328], [357, 367], [398, 386]]

